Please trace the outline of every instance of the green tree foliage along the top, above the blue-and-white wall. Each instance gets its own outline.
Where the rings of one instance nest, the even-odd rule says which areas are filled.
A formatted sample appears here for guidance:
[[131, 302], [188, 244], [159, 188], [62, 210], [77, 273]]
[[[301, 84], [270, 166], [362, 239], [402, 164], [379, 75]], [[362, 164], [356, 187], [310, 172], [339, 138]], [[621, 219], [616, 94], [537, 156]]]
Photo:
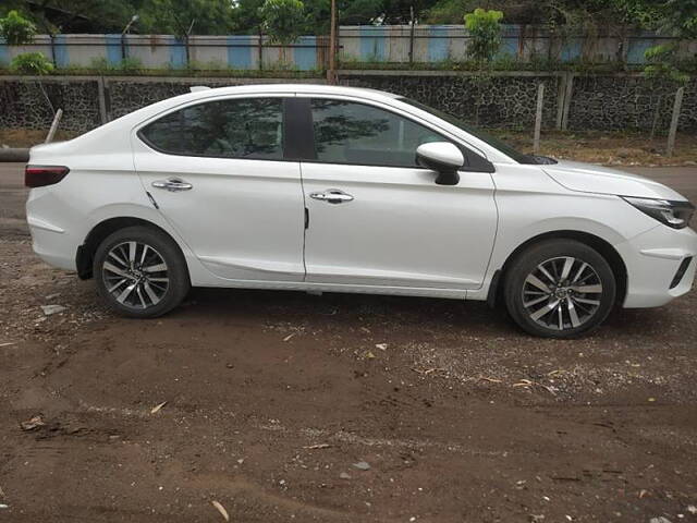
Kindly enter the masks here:
[[[297, 0], [304, 34], [329, 32], [330, 0]], [[294, 2], [295, 3], [295, 2]], [[133, 33], [249, 34], [262, 23], [265, 0], [0, 0], [0, 16], [16, 10], [41, 33], [121, 33], [134, 14]], [[337, 0], [344, 25], [462, 24], [477, 8], [503, 11], [503, 23], [540, 24], [568, 33], [579, 29], [660, 31], [697, 36], [697, 0]]]

